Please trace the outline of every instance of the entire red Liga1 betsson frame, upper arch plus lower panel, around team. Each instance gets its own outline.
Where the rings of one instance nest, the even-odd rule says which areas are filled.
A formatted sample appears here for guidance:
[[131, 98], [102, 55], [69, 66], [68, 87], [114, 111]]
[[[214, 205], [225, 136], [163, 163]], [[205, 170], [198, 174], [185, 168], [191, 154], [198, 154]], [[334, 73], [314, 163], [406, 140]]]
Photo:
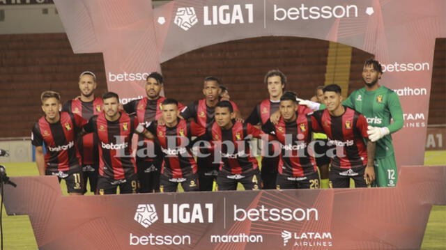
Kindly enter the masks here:
[[[144, 93], [148, 72], [185, 52], [293, 36], [374, 54], [388, 88], [426, 88], [426, 95], [400, 97], [406, 117], [421, 122], [435, 40], [446, 37], [443, 1], [172, 1], [155, 10], [150, 1], [55, 3], [73, 50], [102, 52], [108, 89], [123, 100]], [[40, 249], [416, 249], [431, 205], [445, 205], [445, 168], [413, 166], [423, 163], [425, 136], [425, 126], [394, 134], [398, 166], [410, 167], [400, 167], [392, 189], [75, 198], [61, 197], [55, 178], [14, 178], [19, 187], [5, 190], [6, 208], [30, 214]], [[79, 217], [66, 218], [63, 210]], [[68, 223], [57, 224], [61, 218]]]

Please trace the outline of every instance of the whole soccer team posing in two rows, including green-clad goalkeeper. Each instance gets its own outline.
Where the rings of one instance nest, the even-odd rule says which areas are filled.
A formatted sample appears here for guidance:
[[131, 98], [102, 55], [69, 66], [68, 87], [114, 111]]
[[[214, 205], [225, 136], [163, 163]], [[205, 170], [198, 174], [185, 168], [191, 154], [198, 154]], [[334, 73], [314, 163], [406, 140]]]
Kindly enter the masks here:
[[[382, 74], [369, 60], [364, 88], [346, 100], [336, 84], [301, 100], [284, 91], [286, 76], [271, 70], [269, 98], [243, 120], [216, 77], [204, 79], [204, 99], [185, 107], [160, 96], [164, 81], [153, 72], [146, 97], [122, 106], [116, 93], [95, 97], [95, 75], [82, 72], [75, 100], [62, 105], [59, 93], [41, 95], [45, 115], [31, 136], [36, 164], [40, 175], [66, 180], [72, 195], [84, 194], [87, 180], [95, 194], [118, 187], [121, 194], [176, 192], [178, 184], [185, 192], [236, 190], [239, 182], [247, 190], [349, 187], [350, 179], [355, 187], [393, 187], [390, 134], [401, 129], [403, 114], [397, 94], [379, 85]], [[259, 139], [261, 164], [252, 138]]]

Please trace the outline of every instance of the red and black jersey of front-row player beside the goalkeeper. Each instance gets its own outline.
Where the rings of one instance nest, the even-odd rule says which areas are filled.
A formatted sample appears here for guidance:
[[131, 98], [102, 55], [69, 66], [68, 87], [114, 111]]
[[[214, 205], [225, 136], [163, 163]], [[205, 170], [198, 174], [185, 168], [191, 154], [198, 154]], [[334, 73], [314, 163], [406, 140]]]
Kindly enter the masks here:
[[[367, 120], [359, 112], [344, 106], [341, 116], [331, 116], [327, 109], [314, 112], [312, 120], [316, 132], [328, 136], [328, 146], [336, 147], [332, 166], [352, 169], [367, 166]], [[328, 155], [330, 157], [330, 155]]]

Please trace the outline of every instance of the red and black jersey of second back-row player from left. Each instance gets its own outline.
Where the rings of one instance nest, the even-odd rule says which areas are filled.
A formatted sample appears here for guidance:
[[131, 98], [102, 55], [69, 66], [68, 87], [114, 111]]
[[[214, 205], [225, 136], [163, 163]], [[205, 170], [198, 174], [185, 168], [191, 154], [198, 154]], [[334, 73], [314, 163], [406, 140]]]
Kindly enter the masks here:
[[[148, 100], [148, 98], [142, 98], [139, 100], [132, 100], [132, 102], [125, 104], [123, 108], [128, 114], [134, 114], [141, 125], [147, 127], [151, 122], [153, 122], [154, 120], [158, 120], [161, 117], [162, 102], [164, 102], [164, 100], [166, 100], [166, 97], [159, 97], [157, 100]], [[178, 103], [178, 110], [182, 109], [184, 109], [184, 105]], [[144, 141], [144, 143], [140, 141]], [[156, 155], [157, 157], [162, 157], [160, 146], [157, 145], [153, 140], [144, 138], [144, 136], [138, 136], [137, 148], [138, 150], [142, 148], [153, 149], [154, 155]], [[137, 157], [139, 156], [137, 155]], [[141, 159], [151, 162], [155, 158], [144, 157]]]

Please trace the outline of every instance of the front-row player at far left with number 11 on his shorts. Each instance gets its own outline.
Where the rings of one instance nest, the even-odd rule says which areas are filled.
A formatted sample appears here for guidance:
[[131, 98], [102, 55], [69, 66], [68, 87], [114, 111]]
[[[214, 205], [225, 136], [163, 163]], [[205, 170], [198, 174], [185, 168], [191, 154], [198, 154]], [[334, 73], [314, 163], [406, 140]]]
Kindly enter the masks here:
[[31, 132], [31, 143], [36, 146], [39, 175], [57, 175], [59, 182], [65, 180], [70, 195], [82, 195], [84, 179], [77, 150], [77, 134], [86, 120], [74, 114], [59, 112], [62, 106], [59, 93], [45, 91], [40, 95], [40, 100], [45, 116], [34, 124]]

